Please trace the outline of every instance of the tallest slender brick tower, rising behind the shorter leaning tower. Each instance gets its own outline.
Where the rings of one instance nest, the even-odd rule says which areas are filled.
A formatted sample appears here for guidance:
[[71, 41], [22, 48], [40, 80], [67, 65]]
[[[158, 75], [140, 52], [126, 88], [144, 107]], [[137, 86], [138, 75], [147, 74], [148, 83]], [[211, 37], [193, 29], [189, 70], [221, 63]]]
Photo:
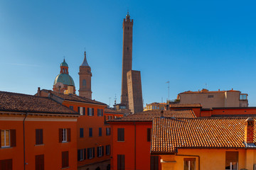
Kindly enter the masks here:
[[132, 26], [129, 13], [123, 22], [122, 94], [121, 103], [128, 108], [127, 72], [132, 69]]

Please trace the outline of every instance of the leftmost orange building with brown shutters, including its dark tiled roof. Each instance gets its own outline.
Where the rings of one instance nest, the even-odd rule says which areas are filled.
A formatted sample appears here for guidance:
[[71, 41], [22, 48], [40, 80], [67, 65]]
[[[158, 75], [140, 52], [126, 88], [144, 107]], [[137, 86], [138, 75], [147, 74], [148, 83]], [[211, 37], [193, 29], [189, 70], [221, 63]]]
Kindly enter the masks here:
[[49, 98], [0, 91], [0, 169], [77, 169], [78, 116]]

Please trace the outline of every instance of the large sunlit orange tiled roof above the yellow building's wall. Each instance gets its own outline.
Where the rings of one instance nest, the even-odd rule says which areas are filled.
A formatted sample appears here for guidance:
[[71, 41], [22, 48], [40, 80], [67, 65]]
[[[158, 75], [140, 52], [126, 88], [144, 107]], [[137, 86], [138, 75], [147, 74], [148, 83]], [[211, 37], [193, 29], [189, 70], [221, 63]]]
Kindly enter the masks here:
[[245, 148], [245, 120], [154, 118], [151, 153], [171, 153], [178, 148]]

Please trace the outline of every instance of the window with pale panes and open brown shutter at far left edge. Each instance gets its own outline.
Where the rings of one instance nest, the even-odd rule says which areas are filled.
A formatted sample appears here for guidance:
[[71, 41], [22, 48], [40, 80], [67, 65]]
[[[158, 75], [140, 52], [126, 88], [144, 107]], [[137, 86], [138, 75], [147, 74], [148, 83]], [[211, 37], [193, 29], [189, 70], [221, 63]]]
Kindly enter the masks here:
[[0, 147], [16, 147], [16, 130], [0, 130]]

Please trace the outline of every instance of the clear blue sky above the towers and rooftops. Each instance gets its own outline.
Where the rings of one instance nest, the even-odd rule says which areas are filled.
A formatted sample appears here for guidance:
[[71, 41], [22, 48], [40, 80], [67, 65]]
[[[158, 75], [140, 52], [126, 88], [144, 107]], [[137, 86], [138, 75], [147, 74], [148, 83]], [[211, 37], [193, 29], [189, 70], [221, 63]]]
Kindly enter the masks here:
[[[117, 103], [122, 21], [134, 19], [144, 104], [183, 91], [235, 89], [256, 106], [255, 1], [0, 1], [0, 91], [52, 89], [63, 56], [79, 89], [86, 48], [92, 98]], [[207, 85], [206, 85], [207, 84]], [[77, 91], [78, 92], [78, 91]]]

